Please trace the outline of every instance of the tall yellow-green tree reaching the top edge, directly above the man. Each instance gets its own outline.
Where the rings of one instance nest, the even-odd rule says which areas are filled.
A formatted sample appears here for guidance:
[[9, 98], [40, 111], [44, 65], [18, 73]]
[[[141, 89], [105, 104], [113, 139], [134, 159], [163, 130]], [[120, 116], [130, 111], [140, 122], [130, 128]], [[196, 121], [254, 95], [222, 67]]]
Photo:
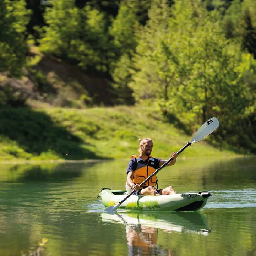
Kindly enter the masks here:
[[170, 69], [168, 56], [165, 56], [165, 59], [161, 58], [162, 54], [166, 55], [161, 42], [170, 32], [171, 10], [168, 2], [154, 1], [148, 16], [146, 26], [137, 31], [140, 40], [136, 54], [132, 58], [133, 70], [131, 70], [132, 79], [129, 87], [134, 91], [136, 100], [167, 97], [166, 91], [170, 86], [170, 80], [167, 77]]

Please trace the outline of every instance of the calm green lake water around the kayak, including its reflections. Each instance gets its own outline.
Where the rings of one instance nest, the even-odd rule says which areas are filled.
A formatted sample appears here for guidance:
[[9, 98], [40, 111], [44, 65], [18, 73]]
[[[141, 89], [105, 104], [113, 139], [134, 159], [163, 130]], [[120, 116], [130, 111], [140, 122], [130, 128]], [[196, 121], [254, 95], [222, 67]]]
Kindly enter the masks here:
[[158, 173], [159, 187], [210, 191], [201, 211], [103, 213], [96, 197], [124, 189], [128, 161], [1, 164], [0, 256], [256, 256], [255, 157], [178, 158]]

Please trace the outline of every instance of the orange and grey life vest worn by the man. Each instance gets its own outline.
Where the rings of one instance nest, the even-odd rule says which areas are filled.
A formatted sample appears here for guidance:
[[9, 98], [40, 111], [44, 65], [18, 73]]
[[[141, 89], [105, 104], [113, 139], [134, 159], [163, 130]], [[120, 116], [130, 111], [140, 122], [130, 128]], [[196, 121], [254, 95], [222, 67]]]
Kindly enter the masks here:
[[[148, 178], [152, 173], [156, 171], [154, 168], [154, 158], [152, 156], [149, 156], [148, 163], [146, 164], [139, 156], [134, 155], [131, 156], [132, 158], [136, 158], [137, 161], [137, 168], [134, 171], [134, 178], [133, 182], [135, 184], [141, 184], [144, 180]], [[157, 185], [157, 177], [154, 175], [150, 180], [148, 180], [142, 187], [148, 187], [148, 186], [156, 186]]]

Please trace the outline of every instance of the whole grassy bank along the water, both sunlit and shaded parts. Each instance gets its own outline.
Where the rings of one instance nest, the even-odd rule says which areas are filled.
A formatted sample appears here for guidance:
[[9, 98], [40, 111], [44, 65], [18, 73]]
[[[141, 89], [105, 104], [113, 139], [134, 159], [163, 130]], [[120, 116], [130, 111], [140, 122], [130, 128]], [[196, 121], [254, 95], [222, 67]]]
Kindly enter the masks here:
[[[138, 139], [143, 137], [153, 139], [154, 156], [168, 157], [192, 135], [163, 122], [156, 108], [145, 106], [2, 108], [0, 118], [1, 161], [127, 158], [138, 153]], [[233, 154], [209, 146], [207, 139], [182, 155]]]

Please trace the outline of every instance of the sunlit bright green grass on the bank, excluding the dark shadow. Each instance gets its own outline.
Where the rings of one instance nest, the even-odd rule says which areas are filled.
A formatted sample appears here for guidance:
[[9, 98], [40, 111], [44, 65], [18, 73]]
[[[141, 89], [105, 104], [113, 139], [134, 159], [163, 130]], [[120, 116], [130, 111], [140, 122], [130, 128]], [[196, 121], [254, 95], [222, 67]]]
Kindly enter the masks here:
[[[22, 113], [22, 110], [19, 111]], [[74, 135], [80, 141], [76, 143], [82, 150], [77, 151], [79, 153], [74, 152], [74, 146], [69, 147], [68, 141], [64, 141], [63, 145], [66, 145], [66, 148], [61, 148], [60, 153], [58, 149], [55, 150], [54, 144], [48, 148], [49, 141], [40, 140], [40, 134], [37, 131], [28, 131], [33, 132], [35, 138], [33, 143], [37, 145], [37, 148], [42, 147], [44, 150], [42, 152], [38, 150], [40, 153], [27, 152], [26, 147], [19, 145], [17, 141], [11, 140], [6, 135], [1, 135], [0, 160], [126, 158], [138, 153], [138, 139], [143, 137], [152, 138], [154, 142], [153, 155], [169, 157], [171, 152], [179, 151], [192, 138], [192, 134], [185, 134], [183, 130], [177, 129], [173, 124], [164, 122], [161, 114], [154, 107], [94, 107], [80, 110], [39, 108], [35, 111], [49, 116], [51, 125], [54, 127], [67, 130]], [[39, 120], [33, 120], [34, 125], [37, 121], [39, 123]], [[23, 120], [23, 122], [26, 125], [28, 120]], [[41, 126], [48, 125], [46, 121], [45, 124], [42, 123], [42, 120], [39, 124]], [[51, 134], [51, 137], [58, 138], [61, 134], [58, 134], [57, 131], [61, 130], [55, 130], [52, 132], [56, 132], [56, 134]], [[48, 130], [49, 132], [51, 131]], [[214, 134], [209, 135], [207, 139], [213, 137]], [[59, 145], [58, 147], [60, 148]], [[81, 152], [89, 153], [82, 154]], [[192, 147], [182, 153], [183, 156], [220, 156], [222, 154], [233, 153], [213, 148], [207, 144], [207, 140], [193, 143]]]

